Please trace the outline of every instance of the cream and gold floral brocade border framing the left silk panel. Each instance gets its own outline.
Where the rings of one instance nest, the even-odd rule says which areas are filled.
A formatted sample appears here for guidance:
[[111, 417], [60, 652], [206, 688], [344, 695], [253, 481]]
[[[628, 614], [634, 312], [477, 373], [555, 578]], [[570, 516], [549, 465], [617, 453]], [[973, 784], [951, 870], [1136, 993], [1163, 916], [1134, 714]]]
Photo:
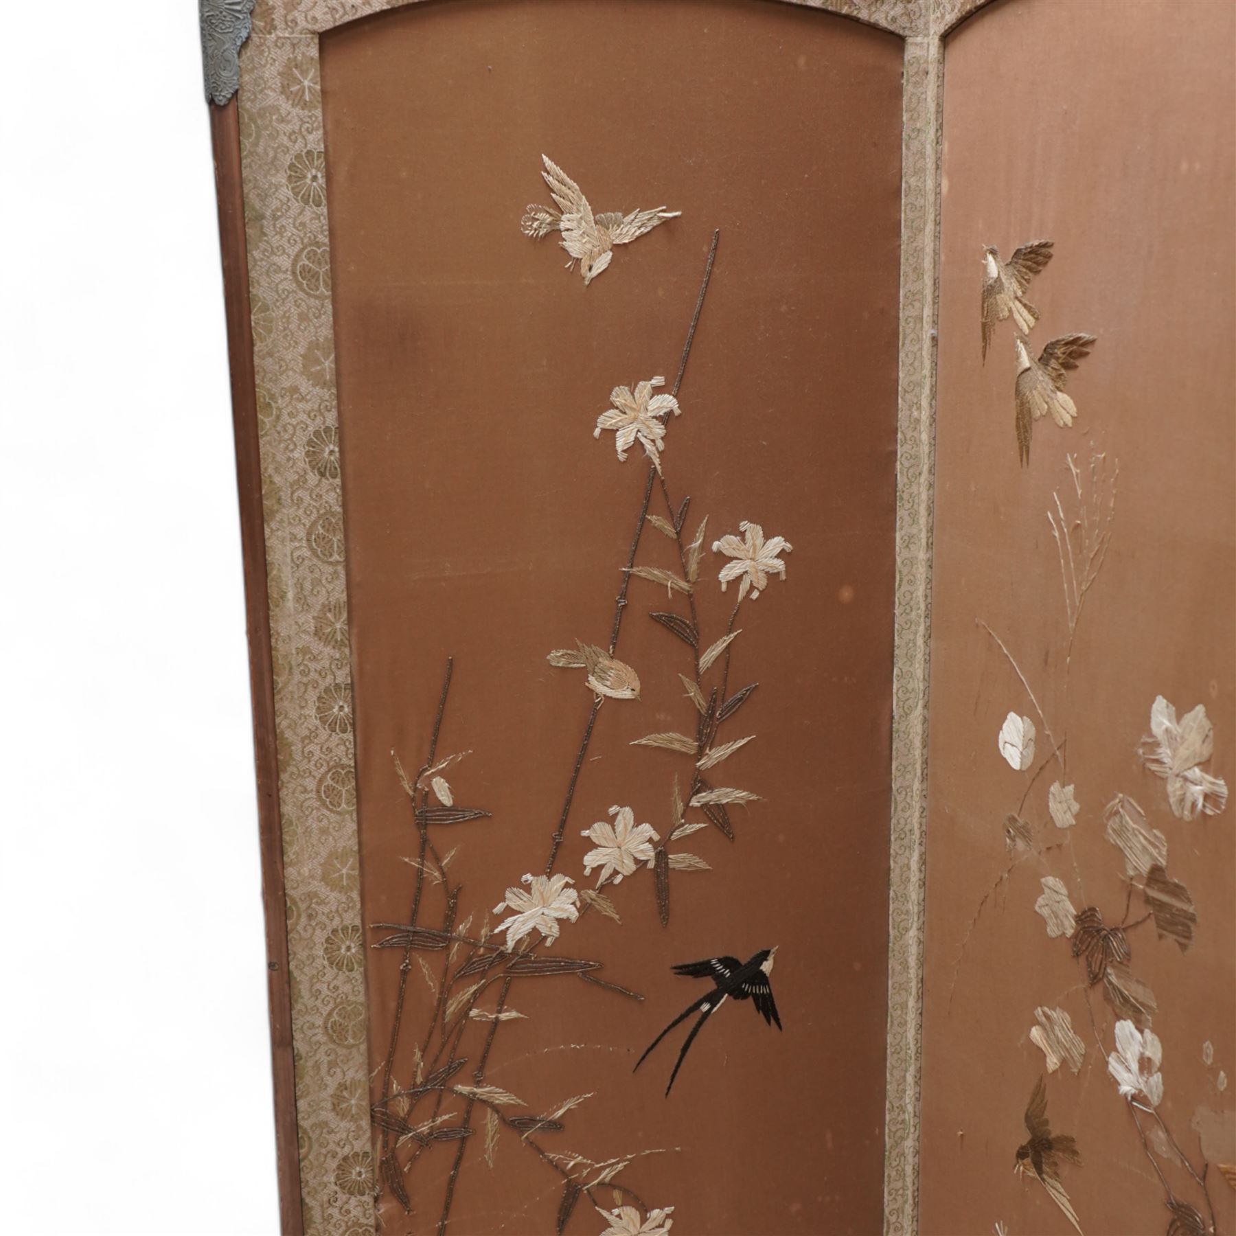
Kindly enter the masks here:
[[[885, 1203], [886, 1230], [910, 1232], [917, 1195], [939, 36], [984, 0], [806, 2], [906, 38]], [[276, 721], [295, 980], [295, 1106], [304, 1221], [316, 1232], [368, 1231], [375, 1187], [371, 1177], [360, 1188], [372, 1172], [365, 1111], [337, 1101], [340, 1086], [356, 1089], [368, 1064], [363, 1036], [341, 1031], [355, 1018], [340, 1010], [363, 1010], [362, 974], [336, 964], [346, 949], [332, 936], [360, 922], [360, 899], [316, 36], [398, 6], [257, 0], [240, 57], [272, 651], [283, 666]], [[613, 1214], [619, 1225], [627, 1220]], [[655, 1214], [667, 1227], [669, 1211]]]

